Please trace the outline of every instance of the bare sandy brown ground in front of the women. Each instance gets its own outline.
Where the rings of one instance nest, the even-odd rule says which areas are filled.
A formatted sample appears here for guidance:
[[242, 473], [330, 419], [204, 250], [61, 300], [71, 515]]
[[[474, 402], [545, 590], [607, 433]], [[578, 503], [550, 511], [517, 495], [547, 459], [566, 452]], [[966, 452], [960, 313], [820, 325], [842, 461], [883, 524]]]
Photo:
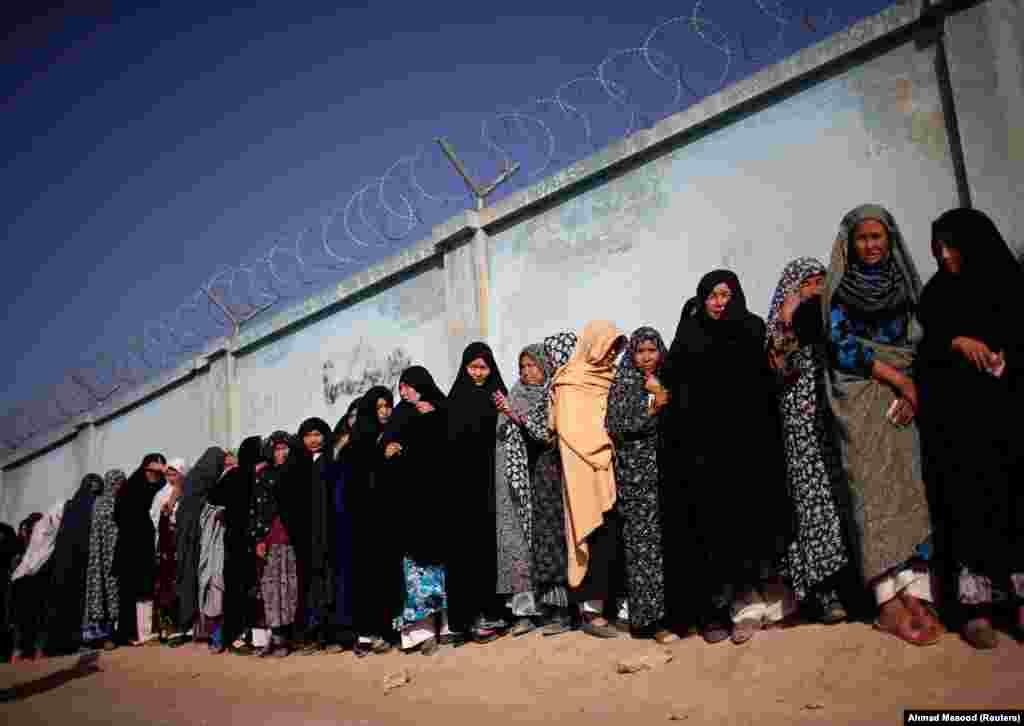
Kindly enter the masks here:
[[[624, 675], [617, 665], [671, 653]], [[662, 657], [664, 660], [664, 656]], [[735, 646], [664, 647], [537, 633], [436, 655], [263, 660], [186, 645], [0, 666], [0, 723], [902, 724], [905, 708], [1024, 707], [1024, 645], [975, 651], [955, 635], [915, 648], [862, 624], [765, 631]], [[385, 682], [407, 672], [410, 682]]]

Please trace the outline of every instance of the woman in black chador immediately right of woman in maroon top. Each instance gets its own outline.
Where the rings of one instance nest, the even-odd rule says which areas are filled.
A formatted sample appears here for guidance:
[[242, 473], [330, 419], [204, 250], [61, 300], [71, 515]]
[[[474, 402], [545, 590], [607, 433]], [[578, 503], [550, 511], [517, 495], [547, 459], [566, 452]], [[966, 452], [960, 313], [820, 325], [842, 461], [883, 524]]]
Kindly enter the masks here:
[[313, 418], [302, 422], [296, 439], [282, 505], [292, 519], [289, 533], [305, 609], [308, 645], [300, 654], [308, 655], [327, 648], [334, 612], [334, 437], [326, 421]]

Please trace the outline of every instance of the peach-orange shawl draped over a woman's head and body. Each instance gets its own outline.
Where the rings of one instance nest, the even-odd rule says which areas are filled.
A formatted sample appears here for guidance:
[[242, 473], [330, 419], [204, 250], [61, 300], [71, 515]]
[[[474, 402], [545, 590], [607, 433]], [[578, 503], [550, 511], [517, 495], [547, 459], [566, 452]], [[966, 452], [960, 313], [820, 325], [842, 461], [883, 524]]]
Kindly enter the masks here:
[[601, 526], [604, 512], [615, 506], [613, 450], [604, 428], [615, 367], [599, 364], [624, 337], [607, 321], [588, 324], [572, 357], [552, 378], [550, 428], [558, 435], [565, 472], [565, 538], [572, 588], [587, 574], [587, 537]]

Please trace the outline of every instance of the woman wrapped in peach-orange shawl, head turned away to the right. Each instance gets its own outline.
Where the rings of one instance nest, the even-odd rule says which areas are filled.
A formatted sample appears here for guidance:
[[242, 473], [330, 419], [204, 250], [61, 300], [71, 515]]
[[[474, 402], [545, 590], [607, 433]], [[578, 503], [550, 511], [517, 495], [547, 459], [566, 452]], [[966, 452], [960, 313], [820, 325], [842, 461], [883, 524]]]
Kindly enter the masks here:
[[581, 603], [583, 630], [617, 636], [601, 616], [616, 557], [614, 451], [604, 428], [614, 359], [626, 336], [612, 323], [587, 325], [575, 352], [552, 379], [550, 428], [558, 436], [565, 472], [565, 538], [570, 597]]

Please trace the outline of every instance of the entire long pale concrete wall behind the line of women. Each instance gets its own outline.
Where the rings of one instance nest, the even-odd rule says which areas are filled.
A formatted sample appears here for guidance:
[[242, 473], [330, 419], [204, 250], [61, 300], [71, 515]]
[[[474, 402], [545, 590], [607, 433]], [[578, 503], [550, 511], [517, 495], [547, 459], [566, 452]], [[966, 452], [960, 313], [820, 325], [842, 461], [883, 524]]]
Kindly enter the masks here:
[[589, 319], [671, 337], [715, 267], [736, 270], [764, 314], [782, 266], [826, 261], [840, 218], [864, 202], [894, 213], [926, 279], [929, 225], [958, 195], [1020, 245], [1021, 3], [990, 0], [945, 20], [948, 86], [920, 13], [915, 0], [896, 2], [37, 436], [0, 462], [0, 520], [45, 510], [88, 471], [131, 470], [150, 451], [195, 461], [207, 445], [310, 416], [334, 425], [411, 364], [446, 389], [475, 339], [492, 343], [511, 382], [524, 345]]

